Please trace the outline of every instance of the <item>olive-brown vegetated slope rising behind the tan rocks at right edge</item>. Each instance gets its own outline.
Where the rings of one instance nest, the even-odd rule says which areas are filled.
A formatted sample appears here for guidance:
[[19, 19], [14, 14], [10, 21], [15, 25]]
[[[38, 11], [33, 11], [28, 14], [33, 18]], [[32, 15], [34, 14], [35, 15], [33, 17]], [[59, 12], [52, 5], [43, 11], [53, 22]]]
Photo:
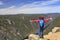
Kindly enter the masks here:
[[48, 29], [44, 30], [44, 34], [48, 34], [48, 32], [51, 32], [54, 27], [60, 27], [60, 16], [56, 17], [56, 19], [51, 23]]

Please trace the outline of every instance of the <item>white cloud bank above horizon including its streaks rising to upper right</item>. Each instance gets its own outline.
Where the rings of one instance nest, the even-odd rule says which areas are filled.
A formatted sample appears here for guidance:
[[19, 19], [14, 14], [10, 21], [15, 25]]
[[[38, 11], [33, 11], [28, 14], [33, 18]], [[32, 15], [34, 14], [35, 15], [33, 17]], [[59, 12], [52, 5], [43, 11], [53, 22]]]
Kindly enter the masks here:
[[[47, 2], [33, 2], [31, 4], [26, 4], [21, 7], [11, 6], [9, 8], [0, 9], [0, 14], [31, 14], [31, 13], [60, 13], [60, 6], [45, 6], [56, 3], [59, 0], [51, 0]], [[45, 4], [44, 4], [45, 3]], [[43, 6], [43, 7], [42, 7]]]

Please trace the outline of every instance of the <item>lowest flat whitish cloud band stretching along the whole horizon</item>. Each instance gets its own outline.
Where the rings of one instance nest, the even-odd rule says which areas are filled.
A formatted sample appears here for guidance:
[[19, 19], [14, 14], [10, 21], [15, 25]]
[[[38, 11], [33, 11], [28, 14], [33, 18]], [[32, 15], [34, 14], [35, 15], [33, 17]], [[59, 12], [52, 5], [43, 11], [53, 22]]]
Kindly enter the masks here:
[[57, 7], [34, 7], [34, 8], [6, 8], [0, 9], [0, 13], [4, 14], [19, 14], [19, 13], [60, 13], [60, 6]]

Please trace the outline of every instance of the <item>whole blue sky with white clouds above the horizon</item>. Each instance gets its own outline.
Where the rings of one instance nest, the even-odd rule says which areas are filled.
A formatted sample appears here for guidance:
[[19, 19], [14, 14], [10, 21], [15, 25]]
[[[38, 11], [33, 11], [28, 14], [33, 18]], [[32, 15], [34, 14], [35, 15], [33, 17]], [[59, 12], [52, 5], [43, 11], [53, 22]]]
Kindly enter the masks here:
[[0, 0], [0, 14], [60, 13], [60, 0]]

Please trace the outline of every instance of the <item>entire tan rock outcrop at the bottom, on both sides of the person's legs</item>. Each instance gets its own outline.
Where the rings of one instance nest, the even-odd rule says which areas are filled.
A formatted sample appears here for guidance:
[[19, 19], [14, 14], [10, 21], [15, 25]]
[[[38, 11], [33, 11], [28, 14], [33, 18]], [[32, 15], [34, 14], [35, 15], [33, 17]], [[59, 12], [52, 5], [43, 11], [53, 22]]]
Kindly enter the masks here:
[[44, 39], [39, 38], [38, 35], [30, 34], [27, 40], [60, 40], [60, 27], [55, 27], [52, 29], [52, 32], [49, 32], [47, 35], [44, 35]]

